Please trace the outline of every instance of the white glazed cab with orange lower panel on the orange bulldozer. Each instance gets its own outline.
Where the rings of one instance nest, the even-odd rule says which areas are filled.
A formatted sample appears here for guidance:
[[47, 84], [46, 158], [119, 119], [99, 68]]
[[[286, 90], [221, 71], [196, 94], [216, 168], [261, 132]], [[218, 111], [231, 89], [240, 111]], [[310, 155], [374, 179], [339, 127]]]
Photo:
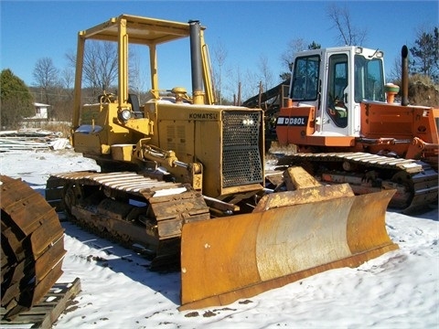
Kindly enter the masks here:
[[294, 111], [281, 110], [279, 142], [319, 145], [335, 139], [332, 143], [348, 146], [360, 133], [360, 102], [384, 101], [384, 84], [380, 50], [339, 47], [298, 53], [290, 99], [299, 105]]

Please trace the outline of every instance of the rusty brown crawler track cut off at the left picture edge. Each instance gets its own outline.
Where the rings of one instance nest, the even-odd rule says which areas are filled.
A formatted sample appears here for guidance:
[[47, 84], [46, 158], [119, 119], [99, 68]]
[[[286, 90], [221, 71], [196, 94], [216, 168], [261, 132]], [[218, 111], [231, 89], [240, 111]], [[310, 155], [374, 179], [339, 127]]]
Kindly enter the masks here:
[[34, 306], [62, 274], [64, 230], [43, 196], [1, 175], [2, 285], [5, 320]]

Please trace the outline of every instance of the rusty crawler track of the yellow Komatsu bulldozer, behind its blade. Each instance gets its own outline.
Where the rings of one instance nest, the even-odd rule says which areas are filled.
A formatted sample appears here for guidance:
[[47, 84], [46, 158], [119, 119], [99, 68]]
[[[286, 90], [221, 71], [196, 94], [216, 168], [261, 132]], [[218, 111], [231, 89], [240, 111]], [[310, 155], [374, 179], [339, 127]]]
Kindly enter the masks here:
[[190, 186], [134, 172], [51, 175], [46, 197], [81, 227], [145, 253], [151, 270], [177, 265], [183, 223], [209, 219], [203, 196]]

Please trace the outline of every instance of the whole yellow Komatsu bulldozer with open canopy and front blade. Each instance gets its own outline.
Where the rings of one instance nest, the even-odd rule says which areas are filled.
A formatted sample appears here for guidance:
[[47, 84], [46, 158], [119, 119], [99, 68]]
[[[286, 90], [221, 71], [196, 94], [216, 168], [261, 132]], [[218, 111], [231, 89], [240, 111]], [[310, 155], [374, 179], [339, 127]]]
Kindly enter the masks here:
[[[54, 173], [49, 202], [72, 220], [179, 264], [180, 310], [227, 304], [398, 246], [385, 213], [394, 190], [355, 196], [288, 168], [266, 186], [263, 112], [215, 104], [205, 27], [122, 15], [80, 31], [71, 143], [101, 172]], [[192, 94], [162, 90], [157, 49], [187, 37]], [[117, 94], [82, 101], [86, 42], [117, 44]], [[129, 88], [129, 47], [149, 48], [151, 98]], [[183, 65], [178, 54], [172, 68]], [[178, 262], [179, 261], [179, 262]]]

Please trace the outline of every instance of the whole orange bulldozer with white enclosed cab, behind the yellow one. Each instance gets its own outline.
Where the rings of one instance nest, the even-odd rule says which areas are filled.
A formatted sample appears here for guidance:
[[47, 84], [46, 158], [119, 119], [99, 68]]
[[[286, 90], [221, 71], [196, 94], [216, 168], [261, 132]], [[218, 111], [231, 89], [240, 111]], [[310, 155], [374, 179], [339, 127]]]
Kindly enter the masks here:
[[409, 104], [406, 46], [395, 102], [400, 87], [385, 82], [383, 58], [353, 46], [294, 56], [275, 129], [276, 146], [295, 152], [278, 164], [301, 165], [322, 184], [348, 183], [356, 194], [396, 189], [390, 206], [406, 213], [428, 209], [438, 196], [439, 109]]

